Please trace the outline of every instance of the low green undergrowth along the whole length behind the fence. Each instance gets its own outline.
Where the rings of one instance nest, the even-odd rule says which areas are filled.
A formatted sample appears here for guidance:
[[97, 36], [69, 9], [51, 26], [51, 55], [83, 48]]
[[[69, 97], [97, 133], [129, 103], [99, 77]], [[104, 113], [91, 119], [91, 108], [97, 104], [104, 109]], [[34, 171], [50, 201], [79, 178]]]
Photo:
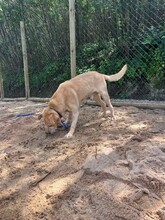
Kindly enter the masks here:
[[[139, 43], [140, 42], [140, 43]], [[165, 32], [146, 33], [140, 41], [123, 41], [117, 49], [111, 41], [98, 41], [84, 44], [77, 50], [77, 74], [96, 70], [113, 74], [127, 63], [126, 75], [117, 83], [108, 84], [113, 98], [164, 99], [158, 93], [165, 89]], [[42, 69], [30, 69], [31, 96], [51, 96], [58, 85], [70, 78], [70, 58], [64, 57], [48, 63]], [[16, 77], [5, 74], [5, 85], [10, 97], [18, 88], [24, 91], [23, 73]], [[19, 78], [19, 80], [18, 80]], [[14, 87], [10, 89], [9, 82]]]

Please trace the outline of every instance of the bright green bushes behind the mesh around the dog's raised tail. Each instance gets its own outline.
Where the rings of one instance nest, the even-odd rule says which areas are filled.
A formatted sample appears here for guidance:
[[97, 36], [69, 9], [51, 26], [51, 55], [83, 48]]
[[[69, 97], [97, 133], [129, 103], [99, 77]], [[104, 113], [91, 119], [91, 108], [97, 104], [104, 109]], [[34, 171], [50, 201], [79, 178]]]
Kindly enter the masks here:
[[[127, 63], [126, 76], [117, 84], [108, 86], [110, 90], [112, 88], [112, 96], [131, 98], [135, 95], [137, 98], [141, 90], [148, 98], [153, 88], [155, 91], [165, 88], [164, 36], [165, 32], [153, 29], [144, 34], [140, 43], [123, 42], [116, 50], [112, 49], [112, 42], [109, 41], [83, 45], [78, 52], [78, 73], [97, 70], [104, 74], [113, 74]], [[130, 93], [130, 89], [133, 92]]]

